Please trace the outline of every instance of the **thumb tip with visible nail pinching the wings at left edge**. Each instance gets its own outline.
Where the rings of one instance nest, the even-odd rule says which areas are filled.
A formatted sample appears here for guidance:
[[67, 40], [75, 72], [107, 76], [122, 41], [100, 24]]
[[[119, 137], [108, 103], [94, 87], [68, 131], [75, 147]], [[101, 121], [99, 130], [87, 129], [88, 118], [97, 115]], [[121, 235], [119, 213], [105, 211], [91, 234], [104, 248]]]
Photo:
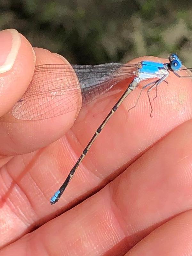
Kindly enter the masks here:
[[26, 91], [35, 68], [35, 52], [15, 29], [0, 31], [0, 116]]

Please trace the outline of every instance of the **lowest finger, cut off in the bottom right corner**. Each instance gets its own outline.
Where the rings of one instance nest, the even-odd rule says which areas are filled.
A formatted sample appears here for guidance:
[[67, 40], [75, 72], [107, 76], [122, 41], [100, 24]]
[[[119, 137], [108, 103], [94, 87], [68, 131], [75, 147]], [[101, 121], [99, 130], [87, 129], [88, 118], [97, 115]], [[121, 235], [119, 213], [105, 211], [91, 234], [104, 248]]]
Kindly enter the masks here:
[[192, 211], [184, 212], [157, 228], [125, 256], [190, 256]]

